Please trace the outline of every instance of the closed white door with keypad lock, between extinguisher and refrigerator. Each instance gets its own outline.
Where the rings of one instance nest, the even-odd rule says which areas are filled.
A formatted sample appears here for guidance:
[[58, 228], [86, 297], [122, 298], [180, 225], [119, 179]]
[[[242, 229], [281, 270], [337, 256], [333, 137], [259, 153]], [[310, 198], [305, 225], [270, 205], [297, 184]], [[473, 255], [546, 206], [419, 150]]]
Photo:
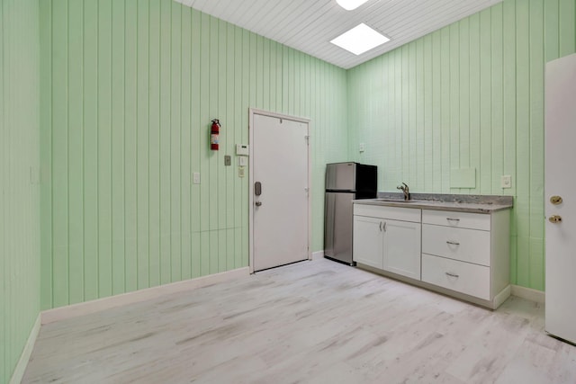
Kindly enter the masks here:
[[309, 259], [309, 124], [250, 110], [252, 272]]

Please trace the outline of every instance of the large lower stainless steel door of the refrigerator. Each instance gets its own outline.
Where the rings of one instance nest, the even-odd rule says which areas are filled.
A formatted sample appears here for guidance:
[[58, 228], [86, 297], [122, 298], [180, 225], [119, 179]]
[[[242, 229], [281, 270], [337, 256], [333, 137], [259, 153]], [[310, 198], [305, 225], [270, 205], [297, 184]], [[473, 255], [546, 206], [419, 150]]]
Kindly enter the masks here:
[[324, 255], [352, 263], [352, 201], [355, 193], [326, 192]]

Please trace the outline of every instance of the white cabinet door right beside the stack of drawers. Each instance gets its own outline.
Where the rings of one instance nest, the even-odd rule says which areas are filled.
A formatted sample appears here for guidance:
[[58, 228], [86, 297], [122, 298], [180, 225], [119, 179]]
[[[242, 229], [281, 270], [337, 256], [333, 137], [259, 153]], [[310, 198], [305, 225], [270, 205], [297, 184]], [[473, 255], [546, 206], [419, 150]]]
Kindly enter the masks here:
[[385, 220], [383, 269], [420, 280], [420, 223]]

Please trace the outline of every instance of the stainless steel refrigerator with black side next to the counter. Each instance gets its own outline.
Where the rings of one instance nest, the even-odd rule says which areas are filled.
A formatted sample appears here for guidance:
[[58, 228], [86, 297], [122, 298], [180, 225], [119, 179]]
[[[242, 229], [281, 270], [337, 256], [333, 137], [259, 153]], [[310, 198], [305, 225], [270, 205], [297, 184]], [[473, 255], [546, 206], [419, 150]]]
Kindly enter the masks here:
[[352, 259], [352, 201], [376, 197], [378, 168], [358, 163], [326, 165], [324, 256], [354, 265]]

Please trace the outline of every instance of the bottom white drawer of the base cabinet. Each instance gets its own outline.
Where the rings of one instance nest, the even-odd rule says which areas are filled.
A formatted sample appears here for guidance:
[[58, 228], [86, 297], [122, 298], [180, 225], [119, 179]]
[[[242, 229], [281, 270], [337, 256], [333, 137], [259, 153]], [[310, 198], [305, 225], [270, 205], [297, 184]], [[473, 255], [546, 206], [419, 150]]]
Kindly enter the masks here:
[[422, 281], [490, 300], [490, 268], [422, 254]]

